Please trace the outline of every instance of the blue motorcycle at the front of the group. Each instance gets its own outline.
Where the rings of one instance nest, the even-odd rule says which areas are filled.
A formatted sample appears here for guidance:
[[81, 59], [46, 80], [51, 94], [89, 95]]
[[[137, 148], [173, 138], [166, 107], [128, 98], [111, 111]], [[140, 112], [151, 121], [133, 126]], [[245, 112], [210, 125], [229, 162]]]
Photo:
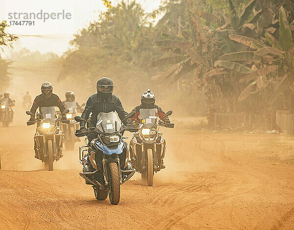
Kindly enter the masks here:
[[[127, 118], [134, 116], [134, 112], [128, 114]], [[127, 119], [126, 118], [126, 119]], [[86, 122], [81, 117], [74, 118], [77, 122]], [[89, 123], [88, 123], [89, 124]], [[129, 180], [135, 173], [135, 169], [122, 169], [128, 166], [130, 156], [123, 141], [124, 131], [136, 132], [134, 126], [125, 127], [112, 111], [109, 113], [100, 112], [96, 127], [90, 127], [87, 131], [76, 130], [75, 135], [82, 137], [92, 132], [98, 137], [89, 143], [85, 139], [86, 146], [79, 150], [79, 162], [84, 165], [90, 162], [93, 172], [80, 172], [80, 176], [86, 180], [86, 184], [92, 185], [97, 200], [105, 200], [109, 194], [110, 203], [117, 205], [120, 202], [121, 184]], [[126, 152], [123, 152], [126, 149]], [[84, 152], [88, 152], [88, 156]], [[123, 153], [123, 154], [122, 154]], [[125, 154], [125, 159], [123, 158]], [[87, 157], [89, 161], [87, 161]]]

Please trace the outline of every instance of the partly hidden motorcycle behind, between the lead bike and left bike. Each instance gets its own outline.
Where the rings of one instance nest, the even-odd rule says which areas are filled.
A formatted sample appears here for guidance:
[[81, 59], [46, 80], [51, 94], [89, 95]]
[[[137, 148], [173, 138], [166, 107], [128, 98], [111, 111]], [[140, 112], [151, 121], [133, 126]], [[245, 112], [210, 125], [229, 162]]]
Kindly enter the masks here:
[[[69, 109], [69, 112], [66, 114], [67, 120], [70, 121], [69, 124], [62, 125], [62, 130], [65, 133], [65, 149], [67, 150], [73, 150], [74, 149], [74, 143], [79, 140], [78, 137], [74, 135], [74, 132], [76, 129], [78, 129], [78, 123], [74, 120], [74, 117], [76, 115], [77, 106], [76, 102], [64, 102], [64, 105], [67, 109]], [[84, 106], [85, 104], [82, 104], [81, 106]], [[79, 111], [80, 112], [80, 111]]]

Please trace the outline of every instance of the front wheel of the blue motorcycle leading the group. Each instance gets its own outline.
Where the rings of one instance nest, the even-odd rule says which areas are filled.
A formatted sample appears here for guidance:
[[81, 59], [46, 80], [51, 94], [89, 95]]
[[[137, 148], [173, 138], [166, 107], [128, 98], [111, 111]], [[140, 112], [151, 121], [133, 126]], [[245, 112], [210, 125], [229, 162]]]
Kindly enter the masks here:
[[117, 205], [121, 198], [119, 167], [116, 162], [110, 162], [107, 169], [109, 178], [109, 200], [111, 204]]

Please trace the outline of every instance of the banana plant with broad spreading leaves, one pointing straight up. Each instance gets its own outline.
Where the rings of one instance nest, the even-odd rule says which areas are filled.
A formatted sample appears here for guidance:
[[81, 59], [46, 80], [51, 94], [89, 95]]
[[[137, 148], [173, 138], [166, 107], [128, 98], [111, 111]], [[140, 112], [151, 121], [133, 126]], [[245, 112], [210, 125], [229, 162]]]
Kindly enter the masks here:
[[[268, 105], [273, 104], [283, 91], [287, 89], [285, 86], [288, 85], [288, 87], [290, 87], [294, 84], [294, 42], [292, 39], [292, 31], [286, 19], [286, 13], [283, 7], [281, 7], [278, 12], [278, 18], [278, 39], [270, 34], [269, 31], [265, 32], [267, 42], [260, 42], [242, 35], [230, 35], [232, 41], [242, 43], [250, 48], [250, 50], [224, 54], [220, 56], [219, 60], [215, 63], [225, 68], [235, 70], [243, 69], [243, 73], [246, 75], [244, 78], [240, 79], [240, 83], [251, 83], [242, 92], [242, 97], [239, 97], [239, 102], [243, 101], [256, 90], [252, 87], [252, 81], [254, 80], [253, 83], [256, 83], [261, 77], [279, 78], [283, 76], [280, 82], [281, 86], [271, 95], [267, 102]], [[245, 65], [242, 65], [240, 62], [247, 63], [247, 67], [245, 68]], [[252, 67], [256, 67], [256, 69], [254, 70]]]

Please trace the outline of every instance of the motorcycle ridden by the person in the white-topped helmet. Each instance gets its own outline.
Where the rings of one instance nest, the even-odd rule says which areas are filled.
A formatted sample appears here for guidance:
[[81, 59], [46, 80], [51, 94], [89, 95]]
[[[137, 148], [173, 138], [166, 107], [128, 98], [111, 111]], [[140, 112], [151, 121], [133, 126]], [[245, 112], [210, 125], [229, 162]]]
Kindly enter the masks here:
[[[168, 111], [164, 117], [170, 116], [172, 110]], [[163, 133], [159, 132], [159, 127], [173, 128], [174, 124], [166, 124], [159, 120], [157, 108], [140, 109], [139, 131], [133, 134], [130, 142], [130, 155], [132, 167], [141, 173], [141, 178], [147, 185], [153, 185], [154, 172], [159, 172], [166, 151], [166, 141]]]

